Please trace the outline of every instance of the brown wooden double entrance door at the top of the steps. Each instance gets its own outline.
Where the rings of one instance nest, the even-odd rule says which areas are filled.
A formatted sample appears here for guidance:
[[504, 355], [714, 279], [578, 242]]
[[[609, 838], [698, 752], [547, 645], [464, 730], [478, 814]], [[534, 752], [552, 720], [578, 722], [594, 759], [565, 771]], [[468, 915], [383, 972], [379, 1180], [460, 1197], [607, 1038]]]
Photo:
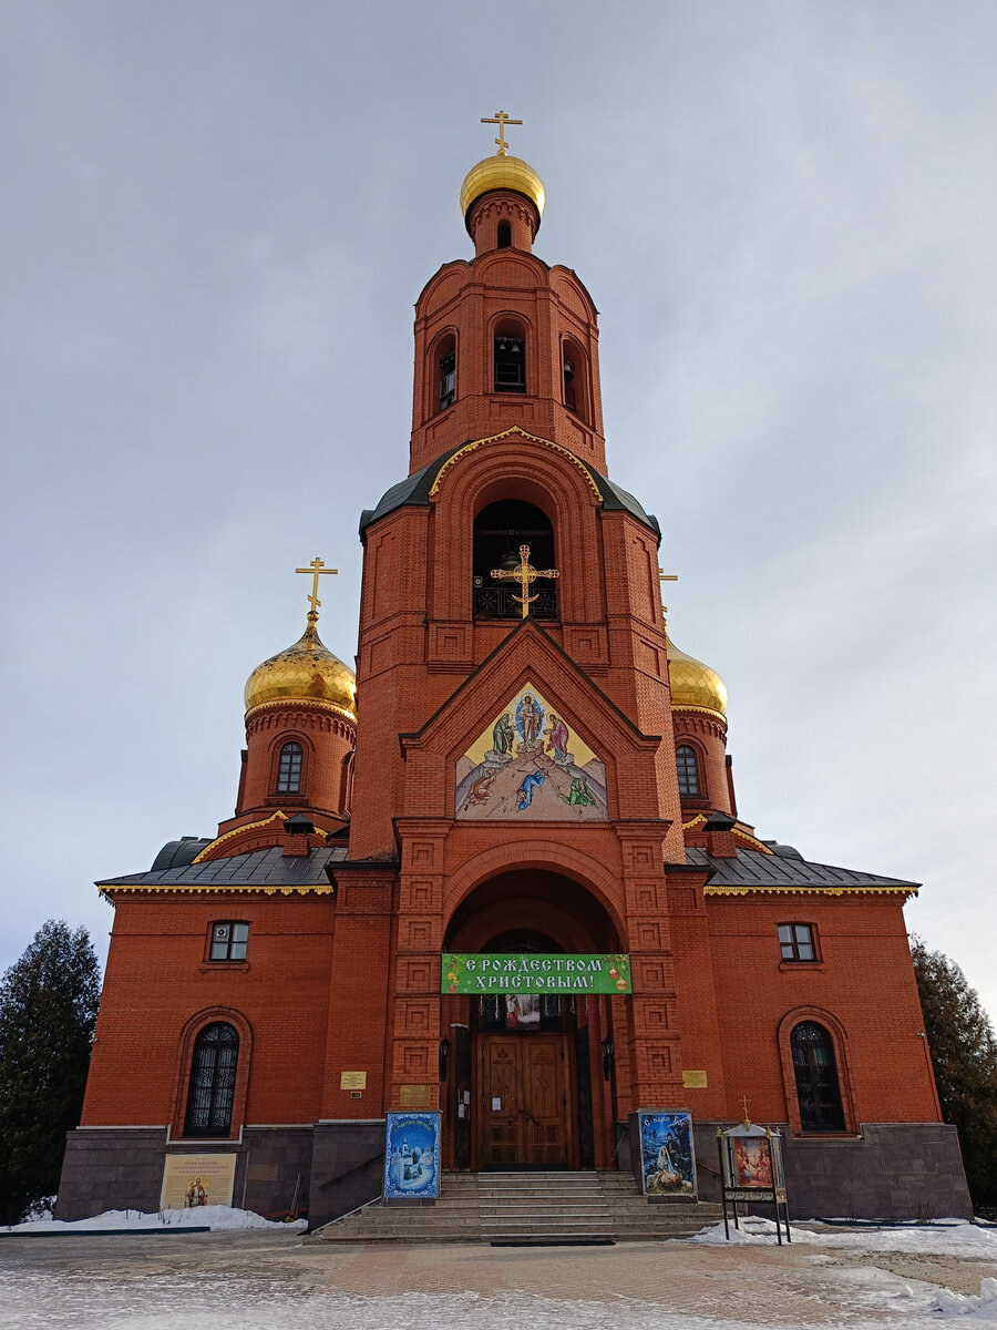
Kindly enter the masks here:
[[477, 1166], [573, 1164], [565, 1035], [479, 1035]]

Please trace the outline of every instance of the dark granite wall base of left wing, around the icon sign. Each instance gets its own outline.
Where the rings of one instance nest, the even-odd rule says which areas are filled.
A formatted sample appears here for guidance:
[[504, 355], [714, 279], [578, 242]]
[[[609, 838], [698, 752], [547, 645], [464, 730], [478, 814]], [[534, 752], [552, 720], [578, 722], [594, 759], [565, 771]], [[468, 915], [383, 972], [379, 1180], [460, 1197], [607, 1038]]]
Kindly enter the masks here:
[[[312, 1128], [247, 1127], [242, 1141], [166, 1141], [164, 1127], [77, 1128], [66, 1134], [57, 1220], [160, 1209], [166, 1154], [235, 1154], [233, 1205], [269, 1220], [308, 1216]], [[295, 1188], [298, 1192], [295, 1201]]]

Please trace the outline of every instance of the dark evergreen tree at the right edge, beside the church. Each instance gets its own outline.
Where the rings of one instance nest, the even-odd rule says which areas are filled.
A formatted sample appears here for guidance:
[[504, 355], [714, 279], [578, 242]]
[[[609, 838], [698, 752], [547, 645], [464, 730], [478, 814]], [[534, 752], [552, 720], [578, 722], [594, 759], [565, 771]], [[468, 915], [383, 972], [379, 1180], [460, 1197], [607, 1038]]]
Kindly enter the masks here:
[[941, 1116], [958, 1128], [962, 1162], [977, 1209], [997, 1205], [997, 1040], [974, 988], [958, 966], [912, 938]]

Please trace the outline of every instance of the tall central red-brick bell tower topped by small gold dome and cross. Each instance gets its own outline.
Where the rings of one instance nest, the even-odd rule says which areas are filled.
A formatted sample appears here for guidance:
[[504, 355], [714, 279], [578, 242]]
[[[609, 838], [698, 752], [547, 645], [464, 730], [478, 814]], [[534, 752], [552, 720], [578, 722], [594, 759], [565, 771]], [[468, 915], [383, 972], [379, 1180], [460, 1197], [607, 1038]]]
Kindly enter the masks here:
[[[436, 1107], [452, 1029], [473, 1045], [457, 1049], [455, 1084], [479, 1084], [472, 1063], [491, 1053], [476, 1031], [491, 1017], [441, 992], [444, 950], [514, 935], [626, 952], [633, 996], [558, 1017], [576, 1080], [614, 1049], [592, 1140], [576, 1121], [558, 1145], [560, 1162], [605, 1164], [613, 1123], [638, 1101], [682, 1100], [665, 866], [683, 866], [685, 849], [661, 532], [606, 476], [596, 306], [573, 270], [533, 253], [544, 186], [509, 154], [508, 117], [491, 122], [498, 152], [460, 193], [475, 254], [416, 303], [408, 475], [360, 521], [360, 724], [350, 853], [332, 870], [332, 974], [352, 978], [342, 992], [334, 978], [324, 1113], [370, 1116], [339, 1088], [368, 1021], [384, 1031], [383, 1108], [411, 1103], [413, 1085]], [[464, 1153], [487, 1164], [489, 1148], [475, 1136]]]

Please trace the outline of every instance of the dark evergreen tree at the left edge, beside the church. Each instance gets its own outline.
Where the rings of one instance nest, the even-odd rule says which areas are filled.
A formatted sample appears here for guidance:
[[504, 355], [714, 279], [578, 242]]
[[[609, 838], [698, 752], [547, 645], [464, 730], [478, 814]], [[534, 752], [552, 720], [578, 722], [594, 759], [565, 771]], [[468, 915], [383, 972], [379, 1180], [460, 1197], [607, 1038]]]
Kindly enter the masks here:
[[0, 1224], [58, 1186], [80, 1121], [100, 970], [85, 928], [49, 919], [0, 980]]

